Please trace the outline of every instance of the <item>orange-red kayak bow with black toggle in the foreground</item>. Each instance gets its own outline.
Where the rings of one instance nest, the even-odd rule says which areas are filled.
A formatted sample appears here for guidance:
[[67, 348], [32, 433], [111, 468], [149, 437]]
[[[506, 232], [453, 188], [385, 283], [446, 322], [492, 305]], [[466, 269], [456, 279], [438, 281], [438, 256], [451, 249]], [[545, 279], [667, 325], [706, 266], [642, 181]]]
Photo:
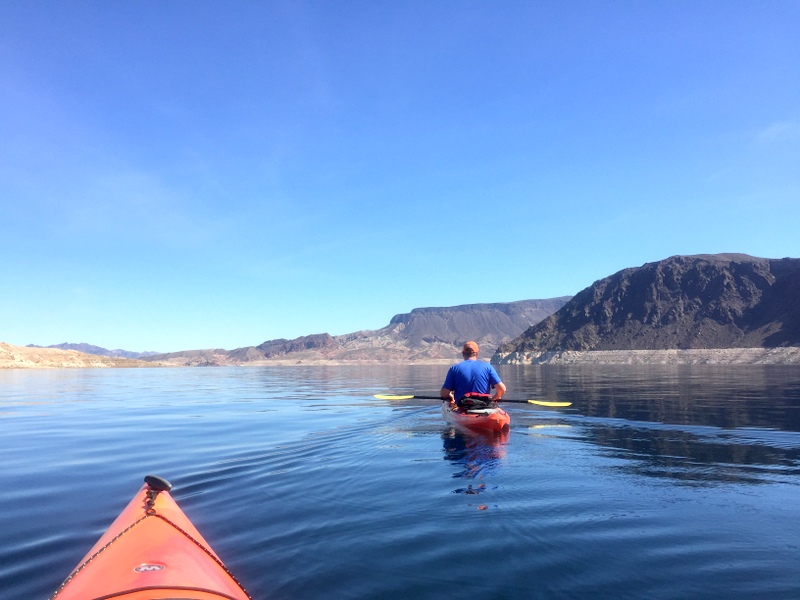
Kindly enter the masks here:
[[144, 480], [50, 600], [251, 600], [169, 495], [172, 485]]

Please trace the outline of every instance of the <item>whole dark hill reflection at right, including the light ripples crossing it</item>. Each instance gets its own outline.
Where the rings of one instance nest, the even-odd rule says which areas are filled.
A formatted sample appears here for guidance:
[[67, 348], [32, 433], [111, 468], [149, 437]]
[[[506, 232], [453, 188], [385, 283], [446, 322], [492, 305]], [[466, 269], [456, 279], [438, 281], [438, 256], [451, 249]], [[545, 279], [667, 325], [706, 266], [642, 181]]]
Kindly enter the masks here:
[[612, 469], [690, 485], [800, 474], [795, 366], [555, 366], [503, 377], [533, 397], [572, 402], [561, 414]]

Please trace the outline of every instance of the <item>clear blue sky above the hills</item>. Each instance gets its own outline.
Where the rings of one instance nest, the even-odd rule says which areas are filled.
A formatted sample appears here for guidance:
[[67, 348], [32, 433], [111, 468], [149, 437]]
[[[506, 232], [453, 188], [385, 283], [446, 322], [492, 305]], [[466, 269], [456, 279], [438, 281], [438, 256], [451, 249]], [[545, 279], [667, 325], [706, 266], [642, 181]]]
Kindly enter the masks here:
[[800, 257], [800, 3], [0, 3], [0, 340], [175, 351]]

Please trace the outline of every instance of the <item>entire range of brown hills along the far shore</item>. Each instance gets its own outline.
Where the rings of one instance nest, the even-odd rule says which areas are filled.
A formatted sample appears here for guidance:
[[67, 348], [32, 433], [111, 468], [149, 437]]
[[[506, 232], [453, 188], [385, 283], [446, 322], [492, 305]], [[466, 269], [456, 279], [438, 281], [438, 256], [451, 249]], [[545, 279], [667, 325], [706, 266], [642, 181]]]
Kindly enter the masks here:
[[[91, 344], [49, 348], [134, 356], [152, 366], [438, 364], [458, 361], [461, 344], [475, 339], [482, 358], [492, 356], [495, 364], [794, 364], [800, 362], [798, 299], [800, 259], [676, 255], [622, 269], [574, 297], [415, 308], [381, 329], [344, 335], [167, 354]], [[22, 356], [18, 347], [14, 352]], [[43, 360], [50, 365], [62, 359]]]

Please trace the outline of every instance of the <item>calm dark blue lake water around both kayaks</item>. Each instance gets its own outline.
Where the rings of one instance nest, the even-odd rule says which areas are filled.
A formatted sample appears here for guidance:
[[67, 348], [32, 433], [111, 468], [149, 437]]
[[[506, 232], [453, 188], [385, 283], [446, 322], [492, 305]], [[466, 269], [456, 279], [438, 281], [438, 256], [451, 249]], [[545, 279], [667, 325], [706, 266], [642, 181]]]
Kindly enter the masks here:
[[0, 372], [0, 598], [47, 598], [148, 473], [254, 598], [800, 598], [800, 368]]

